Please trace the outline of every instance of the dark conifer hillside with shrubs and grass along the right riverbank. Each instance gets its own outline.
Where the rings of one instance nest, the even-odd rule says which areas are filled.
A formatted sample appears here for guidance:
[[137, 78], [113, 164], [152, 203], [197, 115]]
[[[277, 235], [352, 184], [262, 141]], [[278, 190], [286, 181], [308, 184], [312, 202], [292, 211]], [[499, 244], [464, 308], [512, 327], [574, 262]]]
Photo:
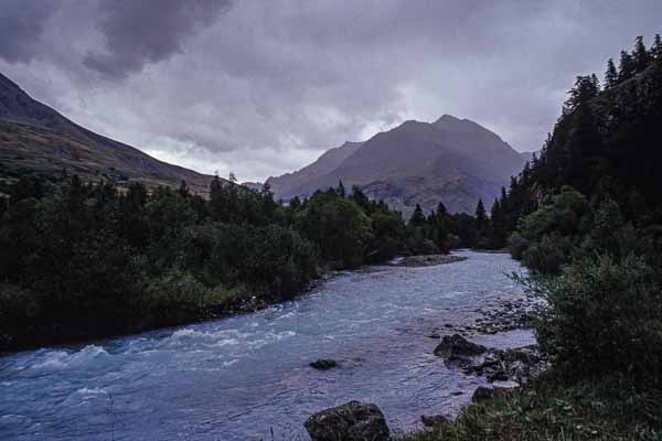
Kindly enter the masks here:
[[[662, 43], [578, 77], [540, 158], [492, 208], [548, 308], [552, 370], [407, 440], [662, 439]], [[480, 216], [479, 216], [480, 217]]]

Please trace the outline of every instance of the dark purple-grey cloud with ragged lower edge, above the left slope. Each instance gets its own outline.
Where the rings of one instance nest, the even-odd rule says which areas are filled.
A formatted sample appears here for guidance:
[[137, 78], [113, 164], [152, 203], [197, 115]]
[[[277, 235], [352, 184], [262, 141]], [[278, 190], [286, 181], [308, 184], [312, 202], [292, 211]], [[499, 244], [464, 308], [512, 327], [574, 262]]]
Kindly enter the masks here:
[[228, 0], [115, 0], [100, 7], [103, 52], [85, 55], [84, 64], [105, 75], [124, 77], [146, 64], [182, 52], [182, 44], [213, 23]]

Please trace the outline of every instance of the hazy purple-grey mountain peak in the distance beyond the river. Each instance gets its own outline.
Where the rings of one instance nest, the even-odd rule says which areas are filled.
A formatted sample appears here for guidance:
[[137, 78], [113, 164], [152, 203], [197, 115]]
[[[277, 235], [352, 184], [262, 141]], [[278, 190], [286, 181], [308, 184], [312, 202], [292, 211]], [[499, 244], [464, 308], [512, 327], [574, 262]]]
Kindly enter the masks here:
[[444, 115], [409, 120], [364, 142], [346, 142], [293, 173], [267, 180], [276, 197], [306, 197], [342, 181], [408, 215], [417, 203], [472, 212], [490, 204], [525, 159], [498, 135], [468, 119]]

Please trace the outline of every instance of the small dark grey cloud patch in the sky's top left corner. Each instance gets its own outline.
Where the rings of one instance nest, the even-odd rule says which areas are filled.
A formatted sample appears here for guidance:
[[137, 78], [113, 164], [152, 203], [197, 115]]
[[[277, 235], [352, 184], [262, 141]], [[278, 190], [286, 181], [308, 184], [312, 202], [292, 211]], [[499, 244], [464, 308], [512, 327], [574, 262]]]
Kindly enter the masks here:
[[39, 53], [39, 36], [56, 4], [41, 0], [2, 0], [0, 4], [0, 57], [29, 62]]

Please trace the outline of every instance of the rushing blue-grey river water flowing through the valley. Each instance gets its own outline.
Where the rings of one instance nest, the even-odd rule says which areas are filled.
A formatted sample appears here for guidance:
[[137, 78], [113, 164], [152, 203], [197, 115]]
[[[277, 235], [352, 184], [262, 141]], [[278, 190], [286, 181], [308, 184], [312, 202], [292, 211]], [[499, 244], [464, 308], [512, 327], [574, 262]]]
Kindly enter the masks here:
[[[2, 440], [308, 440], [311, 413], [352, 399], [395, 430], [452, 413], [484, 380], [449, 370], [426, 334], [522, 295], [506, 255], [338, 275], [265, 311], [0, 358]], [[472, 340], [531, 344], [514, 331]], [[318, 372], [317, 358], [340, 367]]]

